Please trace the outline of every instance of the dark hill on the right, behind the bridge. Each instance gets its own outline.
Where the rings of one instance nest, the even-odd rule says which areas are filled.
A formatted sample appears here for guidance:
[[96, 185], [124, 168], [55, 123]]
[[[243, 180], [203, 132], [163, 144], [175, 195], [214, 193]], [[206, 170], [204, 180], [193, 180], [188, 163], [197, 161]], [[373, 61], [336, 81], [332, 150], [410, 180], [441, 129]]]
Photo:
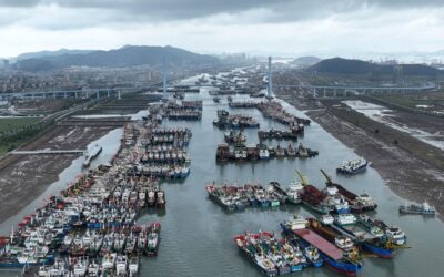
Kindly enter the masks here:
[[438, 76], [444, 74], [443, 71], [423, 64], [389, 65], [342, 58], [322, 60], [321, 62], [310, 66], [307, 70], [311, 72], [351, 75], [370, 75], [375, 73], [379, 75], [393, 75], [400, 70], [402, 71], [402, 74], [410, 76]]

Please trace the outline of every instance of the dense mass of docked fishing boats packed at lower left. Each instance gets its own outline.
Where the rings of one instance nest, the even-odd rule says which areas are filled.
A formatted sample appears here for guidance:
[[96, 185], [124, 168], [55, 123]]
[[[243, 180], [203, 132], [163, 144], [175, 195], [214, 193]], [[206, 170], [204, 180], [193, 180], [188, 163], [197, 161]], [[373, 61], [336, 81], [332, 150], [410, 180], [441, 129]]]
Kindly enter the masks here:
[[165, 207], [154, 177], [128, 171], [142, 130], [127, 125], [110, 164], [78, 176], [1, 237], [0, 267], [39, 266], [42, 277], [138, 275], [140, 256], [158, 252], [160, 224], [137, 219], [145, 207]]

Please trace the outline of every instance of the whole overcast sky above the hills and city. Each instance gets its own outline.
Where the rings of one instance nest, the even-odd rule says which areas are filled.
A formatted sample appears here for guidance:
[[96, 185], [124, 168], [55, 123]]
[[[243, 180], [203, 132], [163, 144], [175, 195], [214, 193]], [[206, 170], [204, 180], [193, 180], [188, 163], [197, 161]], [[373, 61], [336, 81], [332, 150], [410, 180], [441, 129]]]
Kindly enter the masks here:
[[359, 57], [444, 49], [444, 0], [0, 0], [0, 57], [124, 44]]

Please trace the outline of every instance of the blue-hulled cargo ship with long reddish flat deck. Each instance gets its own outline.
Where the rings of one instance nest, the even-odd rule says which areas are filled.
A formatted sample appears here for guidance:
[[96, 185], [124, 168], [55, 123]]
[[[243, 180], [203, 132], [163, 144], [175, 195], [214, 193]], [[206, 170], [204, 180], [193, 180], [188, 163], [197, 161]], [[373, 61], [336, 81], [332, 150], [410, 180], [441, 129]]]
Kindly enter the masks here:
[[319, 249], [324, 264], [333, 270], [345, 274], [346, 276], [356, 276], [361, 270], [361, 263], [351, 260], [344, 255], [344, 252], [335, 245], [321, 237], [317, 233], [307, 228], [303, 224], [292, 225], [291, 222], [281, 223], [281, 227], [286, 236], [295, 235], [305, 246], [314, 246]]

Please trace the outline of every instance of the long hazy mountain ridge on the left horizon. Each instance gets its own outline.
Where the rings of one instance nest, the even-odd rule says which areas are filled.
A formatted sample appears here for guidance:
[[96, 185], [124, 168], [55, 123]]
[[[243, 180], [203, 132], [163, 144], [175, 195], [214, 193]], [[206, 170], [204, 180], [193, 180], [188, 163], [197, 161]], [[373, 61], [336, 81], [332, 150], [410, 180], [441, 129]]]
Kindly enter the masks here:
[[78, 54], [50, 55], [36, 59], [26, 59], [17, 62], [17, 66], [24, 71], [48, 71], [69, 66], [91, 68], [124, 68], [150, 65], [159, 66], [165, 57], [171, 68], [186, 65], [203, 65], [218, 62], [216, 58], [193, 53], [173, 47], [133, 47], [127, 45], [110, 51], [92, 51]]

